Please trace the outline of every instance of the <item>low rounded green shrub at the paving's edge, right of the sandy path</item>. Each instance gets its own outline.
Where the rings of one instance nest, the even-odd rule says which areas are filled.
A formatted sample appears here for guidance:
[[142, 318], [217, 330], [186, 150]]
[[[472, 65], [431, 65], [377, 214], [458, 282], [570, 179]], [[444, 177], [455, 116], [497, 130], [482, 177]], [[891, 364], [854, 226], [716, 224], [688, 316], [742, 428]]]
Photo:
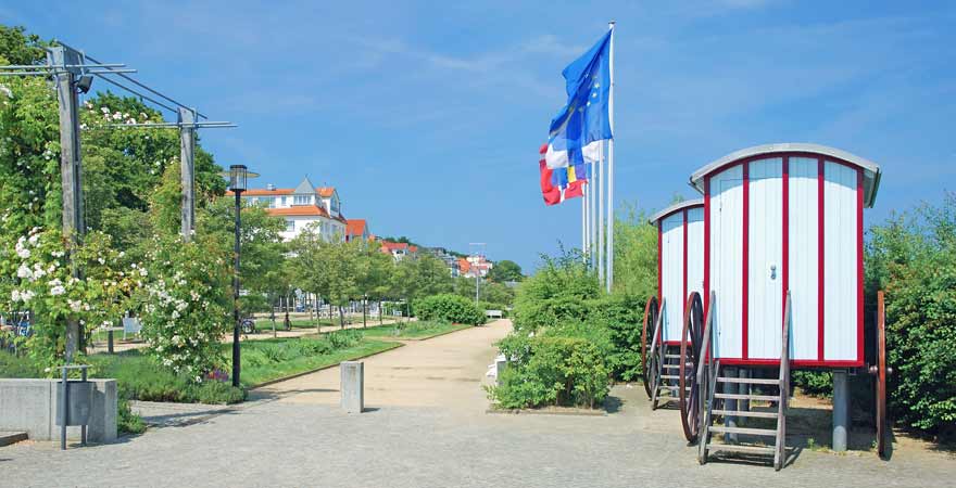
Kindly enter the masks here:
[[594, 408], [611, 390], [604, 354], [586, 337], [512, 335], [500, 347], [512, 362], [488, 393], [501, 408]]

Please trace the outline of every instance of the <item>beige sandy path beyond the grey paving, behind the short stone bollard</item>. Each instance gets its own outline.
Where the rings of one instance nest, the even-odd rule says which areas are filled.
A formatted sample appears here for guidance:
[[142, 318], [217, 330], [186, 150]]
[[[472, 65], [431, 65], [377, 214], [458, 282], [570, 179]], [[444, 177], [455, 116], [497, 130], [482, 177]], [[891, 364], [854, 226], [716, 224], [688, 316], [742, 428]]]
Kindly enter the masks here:
[[[427, 341], [408, 341], [404, 347], [366, 358], [365, 406], [483, 412], [488, 401], [481, 385], [496, 354], [493, 343], [511, 330], [511, 321], [498, 320]], [[259, 388], [252, 396], [278, 397], [285, 403], [336, 404], [339, 384], [339, 369], [330, 368]]]

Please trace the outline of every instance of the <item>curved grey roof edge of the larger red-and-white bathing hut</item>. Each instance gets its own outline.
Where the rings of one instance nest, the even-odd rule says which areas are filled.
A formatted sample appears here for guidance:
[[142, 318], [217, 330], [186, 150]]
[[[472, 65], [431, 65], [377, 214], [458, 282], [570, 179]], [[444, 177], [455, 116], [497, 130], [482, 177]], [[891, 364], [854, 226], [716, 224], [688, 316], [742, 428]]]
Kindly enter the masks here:
[[867, 207], [873, 206], [873, 201], [877, 198], [877, 190], [879, 190], [880, 188], [881, 170], [878, 164], [835, 147], [829, 147], [820, 144], [810, 144], [805, 142], [764, 144], [755, 145], [753, 147], [747, 147], [740, 151], [734, 151], [694, 171], [693, 175], [691, 175], [691, 187], [695, 188], [699, 192], [704, 193], [704, 177], [719, 169], [724, 165], [727, 165], [728, 163], [733, 163], [735, 160], [745, 159], [752, 156], [758, 156], [763, 154], [772, 155], [779, 153], [819, 154], [821, 156], [830, 156], [832, 158], [844, 160], [846, 163], [860, 167], [864, 170], [864, 205], [866, 205]]

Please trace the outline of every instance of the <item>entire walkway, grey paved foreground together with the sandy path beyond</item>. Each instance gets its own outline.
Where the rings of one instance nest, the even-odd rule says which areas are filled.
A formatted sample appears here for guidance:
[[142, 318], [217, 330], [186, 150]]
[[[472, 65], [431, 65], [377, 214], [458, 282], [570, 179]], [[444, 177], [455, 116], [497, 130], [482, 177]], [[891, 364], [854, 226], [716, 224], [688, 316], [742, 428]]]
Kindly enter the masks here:
[[[0, 448], [0, 486], [322, 487], [943, 487], [956, 460], [898, 449], [803, 450], [792, 465], [700, 466], [675, 411], [616, 387], [606, 416], [486, 414], [480, 390], [506, 321], [365, 360], [369, 411], [342, 413], [338, 370], [273, 385], [202, 422], [61, 452]], [[424, 388], [436, 391], [427, 391]]]

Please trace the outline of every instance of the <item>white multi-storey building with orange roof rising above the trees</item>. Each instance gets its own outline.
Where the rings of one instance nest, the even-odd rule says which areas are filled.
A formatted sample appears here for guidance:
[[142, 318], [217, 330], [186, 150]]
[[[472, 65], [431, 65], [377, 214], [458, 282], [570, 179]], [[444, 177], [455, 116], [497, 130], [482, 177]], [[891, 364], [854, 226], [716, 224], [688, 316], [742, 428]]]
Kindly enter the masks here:
[[[227, 192], [227, 194], [231, 194]], [[318, 188], [302, 180], [295, 188], [249, 189], [242, 193], [247, 204], [264, 205], [269, 215], [282, 217], [286, 230], [282, 239], [290, 241], [311, 224], [318, 226], [323, 239], [344, 240], [347, 220], [342, 215], [342, 202], [335, 188]]]

